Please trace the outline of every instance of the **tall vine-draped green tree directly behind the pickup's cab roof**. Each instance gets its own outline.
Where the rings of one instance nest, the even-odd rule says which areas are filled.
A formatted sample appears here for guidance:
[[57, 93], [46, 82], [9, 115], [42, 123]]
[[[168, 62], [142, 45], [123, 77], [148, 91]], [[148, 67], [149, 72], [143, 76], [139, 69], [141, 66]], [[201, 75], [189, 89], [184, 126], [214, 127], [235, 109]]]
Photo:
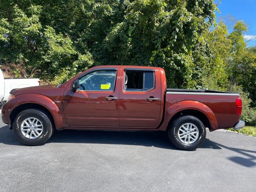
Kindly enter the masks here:
[[124, 19], [104, 38], [100, 60], [160, 66], [171, 87], [203, 87], [211, 54], [202, 35], [214, 21], [213, 1], [145, 0], [126, 5]]

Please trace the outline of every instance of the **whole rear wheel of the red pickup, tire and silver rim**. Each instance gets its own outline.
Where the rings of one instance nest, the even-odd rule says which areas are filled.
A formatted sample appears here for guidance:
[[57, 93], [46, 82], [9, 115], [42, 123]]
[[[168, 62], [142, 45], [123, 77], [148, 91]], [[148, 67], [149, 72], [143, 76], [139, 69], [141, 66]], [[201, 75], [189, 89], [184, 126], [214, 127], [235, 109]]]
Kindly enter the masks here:
[[195, 116], [182, 116], [168, 129], [172, 144], [182, 150], [196, 150], [206, 138], [206, 129], [202, 121]]

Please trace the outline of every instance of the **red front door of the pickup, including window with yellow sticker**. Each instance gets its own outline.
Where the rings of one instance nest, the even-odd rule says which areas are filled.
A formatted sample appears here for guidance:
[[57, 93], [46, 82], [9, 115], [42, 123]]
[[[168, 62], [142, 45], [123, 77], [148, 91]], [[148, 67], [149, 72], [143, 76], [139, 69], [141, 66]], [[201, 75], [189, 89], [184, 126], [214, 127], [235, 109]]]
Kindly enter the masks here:
[[120, 70], [97, 69], [78, 79], [80, 88], [65, 90], [63, 110], [70, 126], [119, 126]]

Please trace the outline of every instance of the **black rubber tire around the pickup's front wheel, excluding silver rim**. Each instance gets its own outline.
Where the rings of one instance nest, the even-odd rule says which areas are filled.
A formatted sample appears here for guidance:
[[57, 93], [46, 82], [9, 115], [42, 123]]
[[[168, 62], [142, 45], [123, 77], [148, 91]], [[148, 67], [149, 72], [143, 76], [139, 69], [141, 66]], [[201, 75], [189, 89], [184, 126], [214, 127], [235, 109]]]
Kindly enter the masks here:
[[[38, 136], [38, 138], [26, 138], [21, 131], [21, 124], [26, 118], [37, 118], [42, 122], [43, 130], [42, 134]], [[19, 142], [25, 145], [41, 145], [45, 143], [53, 133], [53, 124], [46, 112], [40, 109], [27, 109], [20, 112], [14, 122], [13, 122], [13, 132], [14, 136], [17, 138]]]

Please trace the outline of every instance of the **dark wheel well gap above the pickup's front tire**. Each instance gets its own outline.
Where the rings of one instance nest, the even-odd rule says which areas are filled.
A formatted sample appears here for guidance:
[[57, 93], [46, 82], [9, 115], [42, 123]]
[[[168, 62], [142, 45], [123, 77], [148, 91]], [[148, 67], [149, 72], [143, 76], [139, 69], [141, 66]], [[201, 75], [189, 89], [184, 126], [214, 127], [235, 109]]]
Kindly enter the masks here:
[[[16, 116], [17, 116], [20, 112], [22, 112], [22, 111], [24, 111], [24, 110], [26, 110], [26, 109], [37, 109], [37, 110], [40, 110], [40, 111], [42, 111], [42, 112], [45, 112], [45, 113], [47, 114], [47, 116], [50, 118], [50, 121], [52, 122], [52, 125], [53, 125], [54, 128], [55, 128], [55, 121], [54, 121], [54, 118], [53, 118], [52, 114], [50, 113], [50, 111], [49, 111], [46, 107], [44, 107], [44, 106], [42, 106], [42, 105], [40, 105], [40, 104], [35, 104], [35, 103], [21, 104], [21, 105], [17, 106], [16, 108], [14, 108], [14, 109], [12, 110], [11, 114], [10, 114], [10, 122], [11, 122], [11, 125], [13, 124], [13, 122], [14, 122]], [[11, 129], [12, 129], [12, 127], [11, 127]]]

